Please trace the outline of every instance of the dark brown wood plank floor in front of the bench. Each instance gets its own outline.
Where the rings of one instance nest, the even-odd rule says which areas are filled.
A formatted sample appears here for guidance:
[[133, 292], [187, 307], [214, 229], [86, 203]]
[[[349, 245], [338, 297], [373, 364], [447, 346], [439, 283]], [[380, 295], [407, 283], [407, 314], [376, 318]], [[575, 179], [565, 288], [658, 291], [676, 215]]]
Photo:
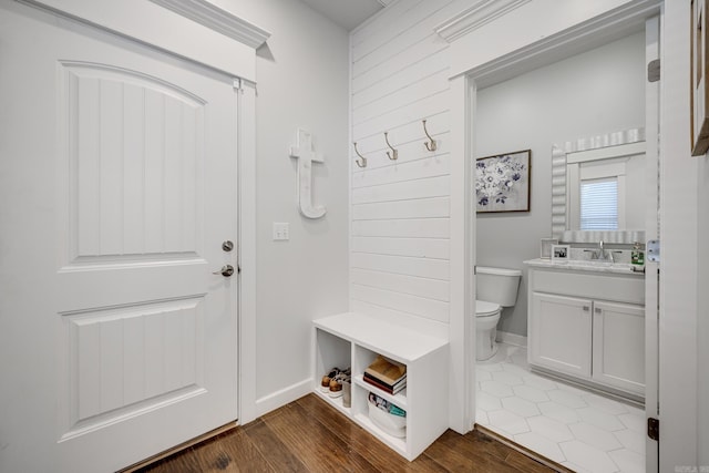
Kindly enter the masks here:
[[549, 472], [477, 431], [448, 431], [408, 462], [315, 394], [141, 472]]

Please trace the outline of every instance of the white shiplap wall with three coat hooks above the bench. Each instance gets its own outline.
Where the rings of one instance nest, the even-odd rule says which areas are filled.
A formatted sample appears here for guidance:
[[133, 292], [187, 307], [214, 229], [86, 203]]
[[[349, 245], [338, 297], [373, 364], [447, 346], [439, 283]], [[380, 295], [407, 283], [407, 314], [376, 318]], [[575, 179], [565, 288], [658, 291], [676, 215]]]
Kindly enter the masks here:
[[[448, 43], [434, 28], [470, 0], [399, 0], [351, 47], [350, 307], [448, 336], [450, 125]], [[427, 151], [421, 121], [438, 141]], [[384, 142], [399, 150], [390, 161]]]

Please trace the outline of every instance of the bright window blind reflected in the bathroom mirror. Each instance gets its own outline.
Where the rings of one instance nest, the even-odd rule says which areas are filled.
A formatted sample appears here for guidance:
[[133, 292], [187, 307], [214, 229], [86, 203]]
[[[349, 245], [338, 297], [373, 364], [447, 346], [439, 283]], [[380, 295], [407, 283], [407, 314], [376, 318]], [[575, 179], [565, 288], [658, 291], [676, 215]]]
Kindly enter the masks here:
[[618, 179], [588, 179], [580, 183], [580, 229], [618, 229]]

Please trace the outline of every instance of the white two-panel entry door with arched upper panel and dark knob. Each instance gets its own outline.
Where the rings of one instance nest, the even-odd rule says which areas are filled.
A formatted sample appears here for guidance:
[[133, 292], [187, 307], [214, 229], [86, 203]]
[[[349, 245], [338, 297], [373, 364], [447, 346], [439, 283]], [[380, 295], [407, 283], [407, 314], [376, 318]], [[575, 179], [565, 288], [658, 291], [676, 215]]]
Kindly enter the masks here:
[[0, 471], [235, 421], [233, 80], [9, 1], [0, 65]]

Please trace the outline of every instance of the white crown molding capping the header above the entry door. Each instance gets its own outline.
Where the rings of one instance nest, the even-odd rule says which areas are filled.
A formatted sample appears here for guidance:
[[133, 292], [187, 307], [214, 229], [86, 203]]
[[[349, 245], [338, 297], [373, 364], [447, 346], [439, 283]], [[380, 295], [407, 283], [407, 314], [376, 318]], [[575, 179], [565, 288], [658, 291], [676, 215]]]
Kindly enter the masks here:
[[257, 49], [270, 33], [206, 0], [150, 0], [192, 21]]

